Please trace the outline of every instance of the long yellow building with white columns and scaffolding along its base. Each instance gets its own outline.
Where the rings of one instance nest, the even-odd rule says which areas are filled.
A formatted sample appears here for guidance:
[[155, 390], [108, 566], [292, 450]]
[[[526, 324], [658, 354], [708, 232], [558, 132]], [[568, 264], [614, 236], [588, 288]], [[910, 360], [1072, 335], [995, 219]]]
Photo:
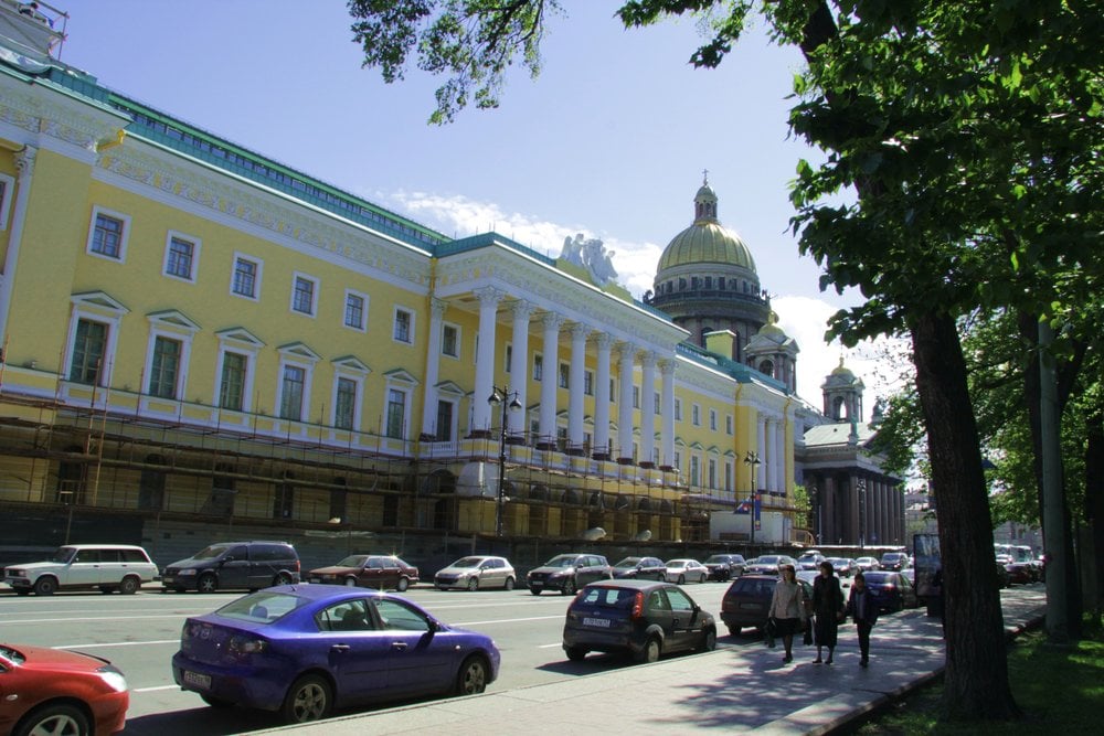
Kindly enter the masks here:
[[145, 107], [0, 13], [0, 503], [675, 541], [754, 482], [793, 515], [800, 407], [732, 332]]

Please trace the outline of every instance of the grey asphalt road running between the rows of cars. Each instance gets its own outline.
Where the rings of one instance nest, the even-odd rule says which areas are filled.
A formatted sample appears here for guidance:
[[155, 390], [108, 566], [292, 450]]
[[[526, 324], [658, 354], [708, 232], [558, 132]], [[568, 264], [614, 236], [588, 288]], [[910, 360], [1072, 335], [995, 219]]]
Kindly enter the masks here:
[[[687, 593], [714, 616], [728, 585], [688, 585]], [[194, 736], [242, 734], [279, 725], [274, 714], [216, 710], [181, 692], [169, 666], [188, 616], [206, 614], [241, 594], [161, 593], [145, 586], [132, 596], [66, 593], [18, 597], [0, 593], [0, 639], [96, 654], [110, 660], [130, 684], [124, 734]], [[406, 594], [447, 623], [488, 633], [502, 651], [500, 678], [490, 687], [511, 690], [628, 666], [625, 660], [592, 655], [569, 662], [560, 648], [564, 611], [571, 600], [528, 590], [439, 591], [422, 585]], [[732, 638], [721, 627], [719, 647], [749, 646], [750, 634]]]

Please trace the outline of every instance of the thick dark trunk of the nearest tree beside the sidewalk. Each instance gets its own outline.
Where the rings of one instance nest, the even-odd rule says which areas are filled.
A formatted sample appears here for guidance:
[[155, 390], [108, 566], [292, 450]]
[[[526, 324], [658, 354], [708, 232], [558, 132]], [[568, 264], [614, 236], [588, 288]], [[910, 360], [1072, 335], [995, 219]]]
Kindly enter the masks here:
[[957, 326], [948, 314], [926, 312], [911, 328], [943, 557], [945, 716], [1016, 718], [1020, 711], [1008, 686], [989, 499]]

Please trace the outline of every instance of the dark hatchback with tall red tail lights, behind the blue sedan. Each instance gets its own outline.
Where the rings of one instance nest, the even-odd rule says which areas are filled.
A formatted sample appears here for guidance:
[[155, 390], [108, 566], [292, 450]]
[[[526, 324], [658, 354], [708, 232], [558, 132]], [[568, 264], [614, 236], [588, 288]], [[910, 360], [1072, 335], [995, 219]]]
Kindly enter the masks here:
[[599, 651], [655, 662], [669, 652], [715, 647], [716, 619], [670, 583], [592, 583], [567, 606], [563, 626], [563, 651], [572, 661]]

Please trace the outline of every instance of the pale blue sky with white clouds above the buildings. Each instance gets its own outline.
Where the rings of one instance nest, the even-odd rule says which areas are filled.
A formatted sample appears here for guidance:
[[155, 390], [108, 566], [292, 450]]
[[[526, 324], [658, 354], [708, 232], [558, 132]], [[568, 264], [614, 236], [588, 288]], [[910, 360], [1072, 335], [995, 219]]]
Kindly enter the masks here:
[[507, 78], [500, 107], [427, 124], [445, 77], [412, 66], [388, 85], [362, 68], [343, 0], [51, 0], [70, 18], [61, 60], [118, 93], [446, 235], [495, 231], [559, 256], [583, 234], [640, 297], [693, 222], [708, 172], [721, 223], [747, 244], [779, 327], [799, 348], [798, 394], [819, 407], [842, 358], [885, 393], [879, 350], [827, 345], [826, 320], [860, 302], [820, 292], [789, 228], [802, 158], [787, 115], [800, 56], [753, 26], [719, 68], [675, 19], [625, 30], [620, 0], [564, 0], [542, 70]]

